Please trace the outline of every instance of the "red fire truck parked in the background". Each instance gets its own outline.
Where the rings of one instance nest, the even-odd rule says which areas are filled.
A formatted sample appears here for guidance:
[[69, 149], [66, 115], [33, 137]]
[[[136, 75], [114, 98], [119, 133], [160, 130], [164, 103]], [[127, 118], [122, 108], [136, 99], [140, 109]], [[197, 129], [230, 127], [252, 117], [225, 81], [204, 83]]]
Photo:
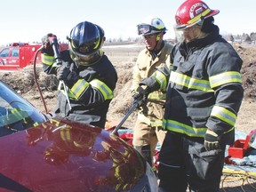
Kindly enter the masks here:
[[[0, 50], [0, 70], [17, 70], [32, 65], [36, 51], [41, 44], [13, 43]], [[68, 49], [68, 44], [60, 44], [60, 50]], [[41, 63], [41, 53], [36, 55], [36, 64]]]

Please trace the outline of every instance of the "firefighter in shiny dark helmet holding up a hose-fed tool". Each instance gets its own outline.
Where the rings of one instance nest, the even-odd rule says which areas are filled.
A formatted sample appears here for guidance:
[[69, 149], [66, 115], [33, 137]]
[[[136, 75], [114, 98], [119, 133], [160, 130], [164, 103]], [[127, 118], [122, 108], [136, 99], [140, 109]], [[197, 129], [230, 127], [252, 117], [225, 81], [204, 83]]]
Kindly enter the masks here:
[[55, 62], [54, 37], [42, 38], [42, 62], [44, 72], [60, 80], [56, 115], [104, 128], [117, 81], [116, 69], [101, 49], [104, 30], [89, 21], [78, 23], [68, 36], [68, 50], [60, 52], [61, 65]]

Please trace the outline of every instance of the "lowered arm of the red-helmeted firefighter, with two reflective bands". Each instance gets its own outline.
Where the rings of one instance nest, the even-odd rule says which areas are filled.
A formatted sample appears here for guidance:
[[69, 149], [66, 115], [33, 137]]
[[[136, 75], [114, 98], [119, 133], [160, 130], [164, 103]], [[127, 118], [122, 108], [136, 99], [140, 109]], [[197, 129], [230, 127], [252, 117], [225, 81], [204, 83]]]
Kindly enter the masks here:
[[[232, 59], [234, 58], [228, 58], [230, 61], [232, 61]], [[204, 140], [211, 145], [212, 142], [216, 143], [216, 140], [218, 140], [218, 142], [219, 140], [225, 140], [224, 144], [230, 145], [234, 140], [234, 134], [230, 132], [234, 132], [235, 130], [237, 114], [244, 96], [242, 76], [239, 72], [239, 68], [236, 67], [236, 64], [239, 63], [238, 61], [235, 58], [229, 65], [220, 68], [219, 73], [216, 73], [216, 68], [213, 68], [215, 70], [213, 72], [209, 70], [209, 80], [214, 91], [215, 104], [207, 120], [206, 126], [208, 130]], [[211, 76], [211, 74], [213, 75]], [[215, 141], [212, 140], [214, 137]], [[205, 146], [205, 148], [206, 147], [207, 146]], [[215, 147], [218, 146], [215, 145]]]

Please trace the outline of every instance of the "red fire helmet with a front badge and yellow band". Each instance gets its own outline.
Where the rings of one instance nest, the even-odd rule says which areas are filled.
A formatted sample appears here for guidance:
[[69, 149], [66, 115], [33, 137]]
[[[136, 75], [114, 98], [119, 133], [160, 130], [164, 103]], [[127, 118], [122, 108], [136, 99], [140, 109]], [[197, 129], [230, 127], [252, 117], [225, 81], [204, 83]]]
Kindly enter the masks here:
[[219, 10], [211, 10], [209, 6], [201, 0], [187, 0], [180, 5], [175, 14], [176, 25], [174, 28], [189, 28], [219, 12]]

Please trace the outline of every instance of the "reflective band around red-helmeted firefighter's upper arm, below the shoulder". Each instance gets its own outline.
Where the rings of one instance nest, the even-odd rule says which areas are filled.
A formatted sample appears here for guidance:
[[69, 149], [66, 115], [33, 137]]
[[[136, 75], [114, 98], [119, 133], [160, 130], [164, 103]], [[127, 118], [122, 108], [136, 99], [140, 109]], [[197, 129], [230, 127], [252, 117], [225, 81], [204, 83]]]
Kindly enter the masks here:
[[242, 84], [241, 74], [237, 71], [228, 71], [216, 76], [210, 76], [209, 80], [212, 88], [218, 87], [221, 84], [228, 84], [234, 82]]

